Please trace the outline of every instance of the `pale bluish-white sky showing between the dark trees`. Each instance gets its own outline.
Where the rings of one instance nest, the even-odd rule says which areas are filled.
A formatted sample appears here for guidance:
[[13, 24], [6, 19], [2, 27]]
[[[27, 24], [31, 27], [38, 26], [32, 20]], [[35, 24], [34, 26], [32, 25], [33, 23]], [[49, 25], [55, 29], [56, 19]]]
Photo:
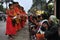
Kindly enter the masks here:
[[[14, 0], [14, 1], [19, 2], [19, 4], [24, 7], [24, 10], [26, 12], [31, 8], [31, 6], [33, 4], [33, 0]], [[47, 1], [49, 1], [49, 0], [47, 0]], [[3, 4], [3, 7], [6, 7], [5, 3]]]

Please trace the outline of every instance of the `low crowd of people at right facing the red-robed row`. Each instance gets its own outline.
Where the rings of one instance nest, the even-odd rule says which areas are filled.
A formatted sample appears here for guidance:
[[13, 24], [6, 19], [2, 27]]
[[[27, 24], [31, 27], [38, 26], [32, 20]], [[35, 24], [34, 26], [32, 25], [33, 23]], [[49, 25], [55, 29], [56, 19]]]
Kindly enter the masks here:
[[29, 17], [30, 40], [60, 40], [60, 21], [55, 15]]

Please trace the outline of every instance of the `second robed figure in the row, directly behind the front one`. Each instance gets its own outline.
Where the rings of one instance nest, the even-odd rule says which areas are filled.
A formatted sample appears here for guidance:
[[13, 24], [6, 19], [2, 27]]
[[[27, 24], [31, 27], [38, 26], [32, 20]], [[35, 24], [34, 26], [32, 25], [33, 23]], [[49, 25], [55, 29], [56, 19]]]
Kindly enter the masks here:
[[17, 3], [18, 2], [13, 2], [13, 5], [14, 5], [14, 11], [15, 11], [15, 13], [17, 14], [17, 24], [16, 24], [16, 30], [17, 31], [19, 31], [19, 30], [21, 30], [21, 23], [20, 23], [20, 21], [19, 20], [21, 20], [21, 17], [20, 17], [20, 9], [18, 9], [18, 5], [17, 5]]

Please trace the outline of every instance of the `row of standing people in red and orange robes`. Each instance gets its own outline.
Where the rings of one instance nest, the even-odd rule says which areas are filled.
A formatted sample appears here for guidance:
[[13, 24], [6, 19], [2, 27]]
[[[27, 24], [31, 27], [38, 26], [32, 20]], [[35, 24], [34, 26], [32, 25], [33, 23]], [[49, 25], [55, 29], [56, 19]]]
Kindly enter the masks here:
[[13, 36], [17, 35], [17, 32], [24, 28], [27, 20], [27, 14], [18, 2], [10, 3], [9, 8], [6, 9], [6, 14], [5, 34], [8, 35], [9, 39], [13, 39]]

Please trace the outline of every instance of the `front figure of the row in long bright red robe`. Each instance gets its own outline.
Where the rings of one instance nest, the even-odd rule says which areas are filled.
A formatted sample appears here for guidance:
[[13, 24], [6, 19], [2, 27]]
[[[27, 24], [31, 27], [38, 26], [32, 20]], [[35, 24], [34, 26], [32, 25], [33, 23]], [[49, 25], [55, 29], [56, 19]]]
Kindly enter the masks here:
[[13, 20], [13, 5], [9, 4], [9, 9], [6, 10], [7, 19], [6, 19], [6, 35], [13, 39], [13, 35], [16, 35], [16, 28], [12, 25]]

